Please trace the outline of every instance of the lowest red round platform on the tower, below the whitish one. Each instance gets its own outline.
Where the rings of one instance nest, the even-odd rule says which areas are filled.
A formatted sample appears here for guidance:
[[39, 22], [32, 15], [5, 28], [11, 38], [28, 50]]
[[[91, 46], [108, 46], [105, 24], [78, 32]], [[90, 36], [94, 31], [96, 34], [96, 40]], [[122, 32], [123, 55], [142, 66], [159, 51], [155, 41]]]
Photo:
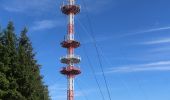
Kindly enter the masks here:
[[80, 69], [78, 67], [63, 67], [60, 71], [63, 75], [78, 75], [81, 73]]

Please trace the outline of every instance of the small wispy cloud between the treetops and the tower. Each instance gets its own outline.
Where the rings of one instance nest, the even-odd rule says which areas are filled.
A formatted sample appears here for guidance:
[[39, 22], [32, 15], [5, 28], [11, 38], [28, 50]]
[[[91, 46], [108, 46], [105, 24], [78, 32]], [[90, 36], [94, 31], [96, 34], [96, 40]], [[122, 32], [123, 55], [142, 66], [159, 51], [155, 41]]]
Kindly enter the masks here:
[[42, 20], [42, 21], [36, 21], [34, 22], [34, 25], [31, 27], [32, 31], [38, 31], [38, 30], [45, 30], [45, 29], [52, 29], [55, 27], [63, 26], [63, 22], [57, 21], [57, 20]]

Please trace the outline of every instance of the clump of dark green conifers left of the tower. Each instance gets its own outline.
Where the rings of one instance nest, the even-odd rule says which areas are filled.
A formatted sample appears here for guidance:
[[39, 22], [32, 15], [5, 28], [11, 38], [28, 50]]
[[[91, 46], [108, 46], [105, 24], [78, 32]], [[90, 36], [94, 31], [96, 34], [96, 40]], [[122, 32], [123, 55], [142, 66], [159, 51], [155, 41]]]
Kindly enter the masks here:
[[50, 100], [27, 29], [17, 37], [12, 22], [0, 28], [0, 100]]

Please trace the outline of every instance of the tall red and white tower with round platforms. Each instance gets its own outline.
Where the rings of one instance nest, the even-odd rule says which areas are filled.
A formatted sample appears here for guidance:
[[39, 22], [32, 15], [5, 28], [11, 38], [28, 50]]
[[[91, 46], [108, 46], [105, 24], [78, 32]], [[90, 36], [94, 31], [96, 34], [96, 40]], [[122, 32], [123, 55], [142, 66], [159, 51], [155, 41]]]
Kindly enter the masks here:
[[61, 46], [67, 49], [67, 55], [61, 58], [61, 63], [67, 66], [63, 67], [60, 72], [67, 76], [67, 100], [74, 100], [74, 78], [81, 73], [79, 67], [75, 66], [81, 58], [74, 54], [74, 49], [80, 46], [80, 42], [74, 39], [74, 16], [80, 12], [80, 6], [75, 4], [75, 0], [68, 0], [67, 4], [61, 6], [61, 11], [68, 15], [68, 31], [61, 43]]

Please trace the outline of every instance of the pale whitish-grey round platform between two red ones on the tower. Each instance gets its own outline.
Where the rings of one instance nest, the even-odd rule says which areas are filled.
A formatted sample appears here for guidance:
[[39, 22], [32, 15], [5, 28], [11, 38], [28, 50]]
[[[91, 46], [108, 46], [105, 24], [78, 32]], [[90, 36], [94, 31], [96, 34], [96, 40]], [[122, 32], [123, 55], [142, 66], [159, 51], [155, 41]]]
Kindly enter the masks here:
[[61, 59], [61, 63], [64, 63], [64, 64], [70, 64], [70, 63], [73, 63], [73, 64], [78, 64], [80, 63], [80, 56], [64, 56], [62, 57]]

